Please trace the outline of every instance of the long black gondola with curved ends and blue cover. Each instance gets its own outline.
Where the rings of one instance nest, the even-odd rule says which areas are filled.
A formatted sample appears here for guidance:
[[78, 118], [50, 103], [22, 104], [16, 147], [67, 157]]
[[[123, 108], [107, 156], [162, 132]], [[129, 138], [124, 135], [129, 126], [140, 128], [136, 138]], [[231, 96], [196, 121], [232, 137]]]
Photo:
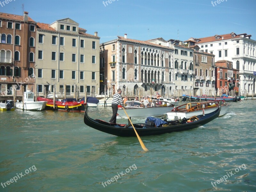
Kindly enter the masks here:
[[[108, 123], [100, 119], [92, 119], [88, 116], [87, 109], [88, 109], [88, 106], [86, 105], [85, 112], [84, 112], [84, 123], [89, 127], [92, 127], [94, 129], [97, 129], [105, 133], [120, 136], [120, 137], [134, 137], [134, 136], [136, 137], [136, 134], [132, 126], [130, 125], [130, 123], [115, 124], [115, 123]], [[133, 125], [140, 136], [160, 135], [164, 133], [184, 131], [184, 130], [189, 130], [189, 129], [199, 127], [217, 118], [219, 114], [220, 114], [220, 107], [218, 107], [212, 113], [209, 113], [206, 115], [199, 115], [199, 116], [191, 117], [190, 119], [165, 121], [166, 122], [165, 124], [159, 125], [158, 127], [156, 127], [155, 125], [149, 126], [148, 123], [133, 124]]]

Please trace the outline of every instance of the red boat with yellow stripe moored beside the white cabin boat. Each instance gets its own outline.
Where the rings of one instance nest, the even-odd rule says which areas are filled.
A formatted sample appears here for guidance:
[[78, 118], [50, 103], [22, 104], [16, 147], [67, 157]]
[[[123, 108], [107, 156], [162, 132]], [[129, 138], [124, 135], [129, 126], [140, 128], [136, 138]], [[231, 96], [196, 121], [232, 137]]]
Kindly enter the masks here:
[[[38, 97], [38, 101], [46, 101], [46, 110], [53, 110], [54, 102], [52, 99]], [[64, 112], [80, 112], [81, 111], [81, 102], [77, 102], [75, 98], [67, 98], [61, 101], [55, 100], [55, 110], [64, 111]]]

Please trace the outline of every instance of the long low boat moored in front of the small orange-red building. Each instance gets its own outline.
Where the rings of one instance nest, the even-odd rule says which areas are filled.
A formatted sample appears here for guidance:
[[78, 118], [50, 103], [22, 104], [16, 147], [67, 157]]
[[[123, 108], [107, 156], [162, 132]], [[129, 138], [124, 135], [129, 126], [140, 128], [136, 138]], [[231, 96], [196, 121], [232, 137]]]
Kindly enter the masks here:
[[[185, 95], [183, 94], [182, 96], [190, 98], [193, 101], [200, 101], [200, 96], [189, 96], [189, 95]], [[226, 95], [222, 95], [222, 96], [216, 96], [216, 97], [209, 97], [209, 96], [201, 96], [201, 101], [208, 101], [208, 100], [225, 100], [225, 101], [240, 101], [240, 97], [235, 96], [235, 97], [231, 97], [231, 96], [226, 96]]]

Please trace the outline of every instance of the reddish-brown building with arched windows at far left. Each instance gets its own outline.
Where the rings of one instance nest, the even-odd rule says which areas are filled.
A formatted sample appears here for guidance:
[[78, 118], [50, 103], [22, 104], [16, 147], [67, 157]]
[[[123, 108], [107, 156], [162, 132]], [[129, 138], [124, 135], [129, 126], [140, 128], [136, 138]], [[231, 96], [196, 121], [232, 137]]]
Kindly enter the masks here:
[[[28, 17], [0, 13], [0, 92], [1, 97], [17, 96], [35, 87], [36, 22]], [[35, 90], [35, 89], [34, 89]]]

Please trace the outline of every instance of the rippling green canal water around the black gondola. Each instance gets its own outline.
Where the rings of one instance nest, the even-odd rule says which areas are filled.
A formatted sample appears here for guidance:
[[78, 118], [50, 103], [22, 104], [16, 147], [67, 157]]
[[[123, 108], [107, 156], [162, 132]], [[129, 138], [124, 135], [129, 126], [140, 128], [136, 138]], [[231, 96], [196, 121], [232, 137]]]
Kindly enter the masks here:
[[204, 126], [141, 137], [148, 152], [86, 126], [83, 113], [1, 112], [0, 191], [256, 191], [256, 102], [230, 104]]

